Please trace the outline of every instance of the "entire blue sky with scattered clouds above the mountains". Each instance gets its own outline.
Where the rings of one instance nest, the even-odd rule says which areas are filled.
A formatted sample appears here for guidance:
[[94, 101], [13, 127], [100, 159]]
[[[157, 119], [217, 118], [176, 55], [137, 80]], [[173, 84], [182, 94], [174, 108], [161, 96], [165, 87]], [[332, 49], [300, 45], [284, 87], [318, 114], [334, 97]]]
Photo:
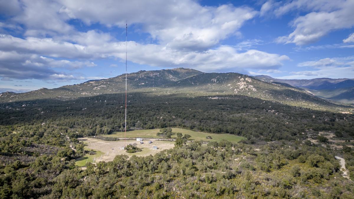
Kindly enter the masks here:
[[[139, 70], [354, 78], [354, 0], [0, 0], [0, 92]], [[127, 24], [127, 42], [126, 42]]]

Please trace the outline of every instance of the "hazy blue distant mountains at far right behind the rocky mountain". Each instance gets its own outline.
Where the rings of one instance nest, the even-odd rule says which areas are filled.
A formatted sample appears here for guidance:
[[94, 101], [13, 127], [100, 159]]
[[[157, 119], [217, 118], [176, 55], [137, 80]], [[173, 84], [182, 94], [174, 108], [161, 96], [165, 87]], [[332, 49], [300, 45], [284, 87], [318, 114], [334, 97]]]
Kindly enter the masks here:
[[257, 75], [255, 78], [275, 83], [288, 84], [298, 88], [306, 89], [313, 95], [331, 99], [343, 103], [354, 103], [354, 79], [330, 79], [330, 78], [316, 78], [316, 79], [276, 79], [267, 75]]

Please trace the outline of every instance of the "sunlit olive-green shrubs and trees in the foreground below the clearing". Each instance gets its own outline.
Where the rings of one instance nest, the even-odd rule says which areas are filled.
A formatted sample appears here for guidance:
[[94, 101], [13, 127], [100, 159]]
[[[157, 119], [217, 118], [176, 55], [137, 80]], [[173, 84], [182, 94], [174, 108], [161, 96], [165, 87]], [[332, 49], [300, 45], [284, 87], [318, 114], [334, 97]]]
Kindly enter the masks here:
[[[44, 129], [53, 130], [38, 130]], [[272, 142], [259, 151], [227, 141], [196, 142], [154, 157], [120, 155], [96, 166], [87, 163], [81, 170], [73, 160], [81, 144], [74, 152], [60, 133], [11, 130], [1, 139], [1, 198], [351, 198], [354, 192], [354, 183], [341, 177], [333, 152], [299, 142]], [[352, 151], [345, 153], [353, 160]]]

